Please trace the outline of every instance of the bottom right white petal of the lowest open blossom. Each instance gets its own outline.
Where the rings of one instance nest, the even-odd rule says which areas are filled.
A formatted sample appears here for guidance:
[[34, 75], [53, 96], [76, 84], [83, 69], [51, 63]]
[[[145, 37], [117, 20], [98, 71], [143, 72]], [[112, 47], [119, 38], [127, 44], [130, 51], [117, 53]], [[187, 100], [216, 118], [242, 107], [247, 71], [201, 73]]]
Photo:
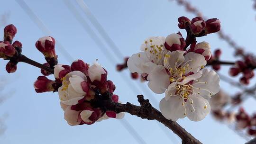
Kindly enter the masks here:
[[199, 95], [190, 95], [189, 96], [193, 100], [193, 107], [189, 101], [185, 103], [187, 108], [187, 117], [192, 121], [201, 121], [206, 115], [210, 113], [210, 105], [207, 99], [202, 98]]

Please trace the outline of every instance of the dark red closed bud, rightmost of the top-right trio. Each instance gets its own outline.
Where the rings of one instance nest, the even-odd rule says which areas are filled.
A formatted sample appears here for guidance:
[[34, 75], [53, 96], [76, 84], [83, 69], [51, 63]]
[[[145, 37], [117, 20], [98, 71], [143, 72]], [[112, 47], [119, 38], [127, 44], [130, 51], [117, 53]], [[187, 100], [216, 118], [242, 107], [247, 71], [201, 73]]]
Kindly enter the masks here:
[[205, 34], [216, 33], [220, 30], [220, 21], [217, 18], [208, 19], [205, 23]]

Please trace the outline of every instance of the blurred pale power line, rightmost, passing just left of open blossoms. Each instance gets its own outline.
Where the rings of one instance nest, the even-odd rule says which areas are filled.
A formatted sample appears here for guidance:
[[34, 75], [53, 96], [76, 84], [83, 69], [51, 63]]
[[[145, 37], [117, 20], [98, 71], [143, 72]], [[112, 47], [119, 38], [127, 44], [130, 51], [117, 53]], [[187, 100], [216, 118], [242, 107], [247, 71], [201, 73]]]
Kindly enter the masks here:
[[[94, 15], [92, 14], [91, 10], [88, 8], [88, 6], [86, 5], [86, 3], [84, 2], [84, 0], [76, 0], [77, 4], [80, 6], [80, 8], [82, 9], [82, 11], [84, 12], [84, 14], [89, 18], [89, 20], [91, 21], [92, 25], [94, 27], [96, 27], [97, 31], [99, 32], [99, 34], [104, 38], [104, 40], [107, 42], [107, 44], [109, 45], [110, 48], [113, 49], [114, 54], [119, 58], [119, 60], [121, 61], [124, 58], [124, 55], [120, 52], [119, 47], [114, 43], [114, 41], [110, 38], [110, 36], [108, 35], [108, 33], [104, 30], [104, 28], [101, 26], [100, 22], [97, 20], [97, 18], [94, 17]], [[82, 17], [80, 17], [81, 19]], [[88, 25], [89, 26], [89, 25]], [[146, 95], [148, 97], [150, 97], [151, 102], [157, 106], [158, 102], [155, 99], [155, 97], [152, 95], [152, 93], [148, 92], [148, 90], [138, 84], [139, 88], [142, 89], [144, 92], [146, 92]], [[160, 128], [162, 128], [162, 130], [164, 131], [164, 133], [167, 135], [167, 137], [173, 141], [174, 139], [170, 138], [170, 134], [169, 132], [167, 132], [164, 127], [158, 123], [158, 125], [160, 126]], [[176, 138], [176, 137], [175, 137]]]

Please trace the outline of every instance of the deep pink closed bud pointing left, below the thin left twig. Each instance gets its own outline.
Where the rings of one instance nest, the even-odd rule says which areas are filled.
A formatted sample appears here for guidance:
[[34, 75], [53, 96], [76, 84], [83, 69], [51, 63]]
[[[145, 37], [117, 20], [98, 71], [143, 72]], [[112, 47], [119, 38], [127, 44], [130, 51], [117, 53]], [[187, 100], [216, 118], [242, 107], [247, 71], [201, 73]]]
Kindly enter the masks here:
[[34, 88], [37, 93], [46, 92], [46, 91], [54, 91], [53, 84], [55, 81], [49, 80], [46, 76], [39, 76], [37, 81], [34, 82]]

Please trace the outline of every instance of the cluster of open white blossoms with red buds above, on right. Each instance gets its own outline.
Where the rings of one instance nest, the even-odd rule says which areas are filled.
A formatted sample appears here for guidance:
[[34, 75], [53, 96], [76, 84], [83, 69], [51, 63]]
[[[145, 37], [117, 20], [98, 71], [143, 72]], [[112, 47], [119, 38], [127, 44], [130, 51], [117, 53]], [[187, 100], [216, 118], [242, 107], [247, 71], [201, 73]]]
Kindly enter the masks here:
[[[180, 28], [190, 27], [193, 35], [206, 31], [202, 18], [190, 22], [181, 17], [178, 21]], [[153, 92], [165, 93], [160, 101], [163, 116], [172, 121], [184, 117], [200, 121], [206, 117], [210, 112], [208, 99], [219, 91], [218, 74], [203, 69], [211, 56], [210, 45], [194, 41], [186, 50], [186, 41], [179, 32], [149, 37], [140, 50], [128, 59], [128, 68], [143, 75]]]

